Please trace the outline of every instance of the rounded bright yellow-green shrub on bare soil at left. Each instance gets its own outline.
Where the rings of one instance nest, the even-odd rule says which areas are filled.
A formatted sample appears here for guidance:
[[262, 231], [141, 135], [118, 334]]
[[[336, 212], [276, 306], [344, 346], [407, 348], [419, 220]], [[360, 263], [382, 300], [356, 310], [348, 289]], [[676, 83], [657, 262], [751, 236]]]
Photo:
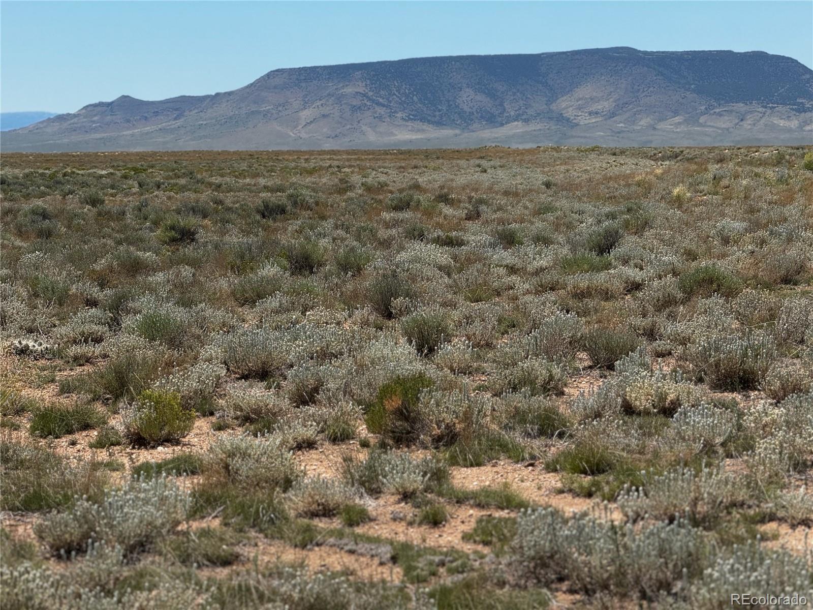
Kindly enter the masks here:
[[130, 442], [159, 445], [184, 438], [195, 423], [195, 412], [180, 404], [180, 394], [144, 390], [122, 411], [124, 435]]

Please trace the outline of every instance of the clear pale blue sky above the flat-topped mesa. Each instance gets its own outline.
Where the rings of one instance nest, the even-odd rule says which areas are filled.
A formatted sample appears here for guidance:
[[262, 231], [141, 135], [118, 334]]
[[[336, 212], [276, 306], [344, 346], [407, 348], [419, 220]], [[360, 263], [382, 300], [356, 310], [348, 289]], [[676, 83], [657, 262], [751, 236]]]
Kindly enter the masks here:
[[0, 2], [2, 111], [236, 89], [275, 68], [602, 46], [813, 67], [813, 2]]

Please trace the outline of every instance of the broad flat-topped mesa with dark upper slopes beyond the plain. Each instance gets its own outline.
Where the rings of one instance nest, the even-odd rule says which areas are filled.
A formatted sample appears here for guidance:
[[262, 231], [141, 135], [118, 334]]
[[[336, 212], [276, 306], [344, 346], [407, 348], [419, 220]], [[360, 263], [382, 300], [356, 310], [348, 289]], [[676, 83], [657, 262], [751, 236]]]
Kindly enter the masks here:
[[42, 151], [811, 143], [813, 71], [795, 59], [628, 47], [288, 68], [2, 136]]

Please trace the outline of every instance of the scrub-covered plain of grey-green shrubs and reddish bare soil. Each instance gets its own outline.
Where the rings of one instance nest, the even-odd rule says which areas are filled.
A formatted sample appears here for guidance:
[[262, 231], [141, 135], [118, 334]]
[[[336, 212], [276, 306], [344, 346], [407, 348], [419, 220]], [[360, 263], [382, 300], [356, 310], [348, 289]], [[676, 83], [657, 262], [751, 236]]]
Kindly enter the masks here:
[[2, 607], [813, 599], [805, 147], [2, 156]]

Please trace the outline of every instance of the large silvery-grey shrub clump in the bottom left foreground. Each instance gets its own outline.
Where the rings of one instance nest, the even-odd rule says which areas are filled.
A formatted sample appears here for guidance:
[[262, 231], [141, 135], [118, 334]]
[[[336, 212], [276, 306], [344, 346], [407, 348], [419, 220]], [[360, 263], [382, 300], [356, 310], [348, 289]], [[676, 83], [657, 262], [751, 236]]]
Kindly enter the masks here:
[[54, 553], [85, 551], [89, 541], [135, 553], [172, 532], [188, 508], [188, 492], [172, 481], [137, 479], [107, 490], [100, 503], [77, 498], [66, 512], [51, 513], [34, 525], [34, 534]]

